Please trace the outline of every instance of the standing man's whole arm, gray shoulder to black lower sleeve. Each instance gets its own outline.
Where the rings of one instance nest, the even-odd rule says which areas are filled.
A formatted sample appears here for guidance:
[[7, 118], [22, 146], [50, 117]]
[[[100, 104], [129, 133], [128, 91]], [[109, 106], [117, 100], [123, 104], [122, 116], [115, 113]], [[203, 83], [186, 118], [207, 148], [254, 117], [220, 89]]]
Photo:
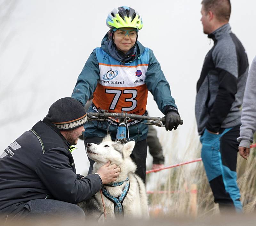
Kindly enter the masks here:
[[237, 92], [238, 66], [235, 44], [217, 44], [212, 52], [212, 59], [218, 71], [219, 87], [206, 129], [217, 133], [235, 101]]

